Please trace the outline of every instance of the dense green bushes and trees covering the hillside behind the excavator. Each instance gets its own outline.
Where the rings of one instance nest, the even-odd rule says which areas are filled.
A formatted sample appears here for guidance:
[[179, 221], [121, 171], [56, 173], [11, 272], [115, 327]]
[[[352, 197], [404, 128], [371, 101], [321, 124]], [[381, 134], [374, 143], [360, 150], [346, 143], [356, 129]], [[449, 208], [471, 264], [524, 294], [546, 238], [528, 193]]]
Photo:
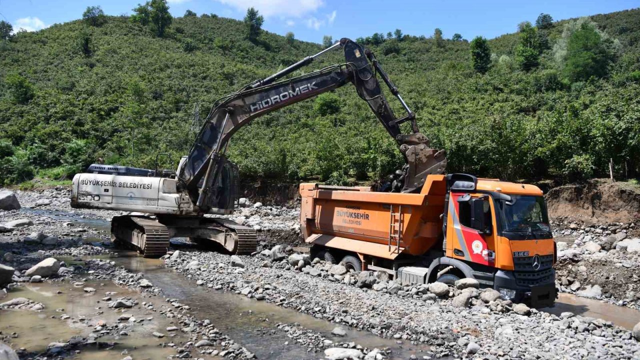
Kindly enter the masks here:
[[[68, 179], [98, 158], [152, 168], [158, 152], [175, 168], [216, 99], [332, 43], [264, 31], [255, 12], [172, 19], [158, 4], [130, 17], [88, 8], [37, 32], [0, 26], [0, 185]], [[637, 177], [640, 10], [541, 14], [513, 29], [472, 41], [384, 29], [357, 41], [447, 151], [449, 172], [575, 181], [608, 174], [612, 160], [616, 177]], [[294, 75], [342, 62], [332, 53]], [[245, 178], [335, 184], [376, 181], [403, 163], [350, 85], [255, 120], [228, 153]]]

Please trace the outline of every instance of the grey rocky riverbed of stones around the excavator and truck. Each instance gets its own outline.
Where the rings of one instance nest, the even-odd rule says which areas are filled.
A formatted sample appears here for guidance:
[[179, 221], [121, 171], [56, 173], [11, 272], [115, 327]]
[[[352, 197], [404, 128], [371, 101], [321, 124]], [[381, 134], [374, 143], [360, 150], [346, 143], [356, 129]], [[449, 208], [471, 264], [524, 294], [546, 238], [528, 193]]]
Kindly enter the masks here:
[[[3, 226], [0, 228], [0, 263], [14, 268], [8, 294], [0, 293], [0, 297], [13, 303], [6, 304], [0, 314], [3, 311], [50, 311], [46, 299], [22, 296], [21, 289], [33, 286], [61, 286], [62, 293], [76, 291], [86, 297], [99, 296], [93, 311], [87, 314], [64, 311], [47, 314], [57, 316], [63, 323], [81, 324], [91, 331], [70, 334], [67, 338], [60, 336], [44, 344], [44, 348], [15, 348], [20, 359], [72, 356], [77, 351], [93, 351], [97, 347], [118, 350], [122, 355], [118, 358], [136, 358], [133, 345], [128, 349], [122, 347], [123, 343], [127, 344], [122, 338], [138, 331], [143, 333], [145, 323], [155, 326], [155, 331], [144, 332], [148, 338], [145, 341], [155, 344], [154, 348], [170, 350], [169, 354], [163, 352], [162, 357], [253, 357], [241, 343], [218, 330], [215, 323], [192, 314], [188, 301], [166, 299], [163, 288], [154, 286], [144, 274], [136, 274], [113, 262], [110, 257], [118, 250], [111, 247], [105, 219], [118, 212], [72, 209], [68, 206], [65, 188], [42, 193], [17, 192], [16, 195], [22, 209], [0, 211]], [[512, 304], [499, 299], [494, 291], [478, 290], [475, 282], [463, 281], [455, 287], [402, 286], [383, 279], [380, 274], [356, 275], [341, 265], [312, 262], [305, 254], [294, 252], [294, 249], [301, 250], [296, 245], [304, 245], [297, 235], [298, 209], [252, 204], [246, 200], [243, 206], [229, 217], [262, 232], [260, 254], [237, 257], [182, 247], [166, 257], [166, 266], [186, 277], [186, 286], [212, 291], [211, 296], [227, 291], [253, 302], [268, 302], [333, 323], [336, 327], [333, 334], [295, 322], [280, 322], [269, 328], [268, 332], [280, 332], [305, 348], [310, 358], [323, 355], [334, 359], [403, 358], [397, 354], [408, 355], [399, 348], [419, 344], [425, 347], [413, 356], [425, 359], [640, 357], [640, 345], [633, 331], [598, 318], [569, 312], [552, 315], [529, 309], [524, 304]], [[562, 291], [632, 309], [637, 307], [639, 288], [637, 275], [632, 271], [639, 261], [633, 245], [637, 235], [635, 225], [555, 224], [555, 229], [557, 240], [565, 243], [559, 244], [557, 266], [558, 286]], [[278, 240], [278, 233], [282, 232], [291, 236]], [[275, 245], [282, 246], [273, 249]], [[32, 270], [49, 258], [58, 261], [55, 272]], [[56, 268], [51, 262], [53, 260], [45, 265]], [[111, 291], [105, 285], [109, 283], [123, 290]], [[596, 293], [598, 288], [600, 294]], [[107, 291], [126, 295], [109, 295]], [[27, 300], [15, 300], [20, 297]], [[125, 307], [120, 307], [123, 303]], [[131, 307], [126, 307], [128, 305]], [[134, 321], [104, 320], [104, 314], [117, 314], [118, 319], [120, 315], [131, 315], [129, 319]], [[64, 315], [69, 318], [61, 319]], [[170, 325], [166, 325], [167, 321]], [[267, 321], [266, 317], [263, 321]], [[380, 336], [380, 344], [389, 341], [383, 338], [390, 339], [399, 348], [388, 343], [361, 345], [357, 339], [339, 340], [342, 332], [358, 330]], [[122, 331], [128, 335], [121, 334]], [[16, 343], [12, 336], [24, 335], [10, 331], [0, 334], [5, 343]], [[635, 336], [640, 337], [640, 329]], [[56, 344], [51, 345], [53, 343]], [[49, 345], [55, 350], [50, 351]]]

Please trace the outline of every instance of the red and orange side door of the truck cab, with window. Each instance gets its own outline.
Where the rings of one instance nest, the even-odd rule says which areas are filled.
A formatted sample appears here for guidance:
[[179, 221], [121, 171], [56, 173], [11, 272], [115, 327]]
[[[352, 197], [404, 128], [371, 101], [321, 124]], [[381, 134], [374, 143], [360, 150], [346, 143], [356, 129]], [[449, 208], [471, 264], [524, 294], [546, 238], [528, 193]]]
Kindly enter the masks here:
[[495, 266], [497, 244], [493, 214], [489, 195], [451, 192], [445, 256]]

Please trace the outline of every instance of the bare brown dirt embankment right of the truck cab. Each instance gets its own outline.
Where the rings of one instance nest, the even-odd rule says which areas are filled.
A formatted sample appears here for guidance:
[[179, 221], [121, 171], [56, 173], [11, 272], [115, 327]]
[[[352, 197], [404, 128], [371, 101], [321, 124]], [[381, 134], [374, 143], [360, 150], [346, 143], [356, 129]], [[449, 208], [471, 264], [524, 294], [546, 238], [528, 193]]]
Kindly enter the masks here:
[[594, 179], [558, 186], [549, 190], [545, 198], [552, 218], [588, 224], [640, 221], [640, 186], [630, 183]]

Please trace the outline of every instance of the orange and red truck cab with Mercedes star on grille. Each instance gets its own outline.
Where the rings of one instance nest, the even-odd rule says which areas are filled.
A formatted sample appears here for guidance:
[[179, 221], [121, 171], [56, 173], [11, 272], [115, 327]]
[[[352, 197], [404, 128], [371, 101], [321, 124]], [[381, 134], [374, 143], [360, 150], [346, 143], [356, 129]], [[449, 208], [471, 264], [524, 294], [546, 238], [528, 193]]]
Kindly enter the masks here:
[[556, 248], [540, 188], [463, 174], [447, 183], [445, 257], [507, 299], [554, 300]]

